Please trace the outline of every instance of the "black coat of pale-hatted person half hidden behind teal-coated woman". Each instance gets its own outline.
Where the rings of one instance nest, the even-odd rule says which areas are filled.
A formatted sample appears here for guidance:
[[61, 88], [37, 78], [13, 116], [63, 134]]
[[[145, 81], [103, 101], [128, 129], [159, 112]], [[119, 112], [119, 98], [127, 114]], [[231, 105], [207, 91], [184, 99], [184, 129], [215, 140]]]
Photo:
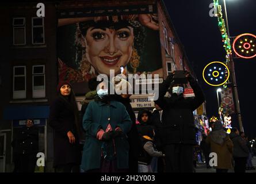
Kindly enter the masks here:
[[128, 133], [129, 142], [129, 172], [137, 173], [138, 156], [141, 149], [140, 138], [136, 127], [136, 116], [132, 110], [129, 98], [122, 98], [120, 95], [114, 95], [114, 99], [123, 104], [132, 120], [132, 128]]

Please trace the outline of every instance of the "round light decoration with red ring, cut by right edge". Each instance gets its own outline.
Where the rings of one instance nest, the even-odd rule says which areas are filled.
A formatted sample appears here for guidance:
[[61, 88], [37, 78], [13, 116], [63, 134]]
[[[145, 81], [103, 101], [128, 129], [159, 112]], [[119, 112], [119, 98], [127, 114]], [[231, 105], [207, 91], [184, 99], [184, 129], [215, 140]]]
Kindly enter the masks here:
[[239, 57], [250, 59], [256, 56], [256, 36], [244, 33], [237, 36], [233, 42], [233, 50]]

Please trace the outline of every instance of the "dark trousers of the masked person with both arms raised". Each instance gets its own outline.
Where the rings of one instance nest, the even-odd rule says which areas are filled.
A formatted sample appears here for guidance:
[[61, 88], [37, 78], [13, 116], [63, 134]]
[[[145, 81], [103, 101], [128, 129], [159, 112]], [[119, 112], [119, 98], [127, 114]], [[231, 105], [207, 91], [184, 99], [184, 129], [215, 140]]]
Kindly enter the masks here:
[[165, 145], [166, 173], [193, 173], [193, 145]]

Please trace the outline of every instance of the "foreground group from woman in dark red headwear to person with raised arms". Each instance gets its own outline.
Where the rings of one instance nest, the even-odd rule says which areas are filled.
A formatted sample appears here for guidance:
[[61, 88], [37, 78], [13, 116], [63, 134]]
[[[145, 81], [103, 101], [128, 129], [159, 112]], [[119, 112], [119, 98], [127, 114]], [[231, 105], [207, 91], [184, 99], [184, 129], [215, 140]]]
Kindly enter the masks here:
[[[195, 97], [184, 98], [183, 84], [174, 85], [174, 73], [159, 86], [155, 110], [132, 110], [127, 93], [109, 94], [110, 89], [131, 85], [116, 82], [91, 83], [82, 106], [82, 125], [77, 125], [77, 107], [72, 86], [58, 85], [59, 97], [51, 105], [49, 125], [54, 129], [56, 172], [193, 172], [196, 142], [193, 111], [204, 102], [197, 81], [186, 73]], [[97, 88], [97, 89], [96, 89]], [[166, 97], [170, 93], [171, 97]], [[83, 132], [79, 131], [81, 129]], [[79, 134], [84, 133], [82, 154]], [[63, 154], [64, 152], [64, 154]]]

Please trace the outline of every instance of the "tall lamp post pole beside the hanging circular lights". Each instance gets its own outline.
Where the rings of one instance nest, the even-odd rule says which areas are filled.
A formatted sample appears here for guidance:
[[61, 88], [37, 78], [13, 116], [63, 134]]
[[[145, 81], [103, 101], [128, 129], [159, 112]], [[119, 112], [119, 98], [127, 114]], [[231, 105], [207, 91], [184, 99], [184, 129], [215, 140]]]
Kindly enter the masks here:
[[[228, 16], [227, 16], [226, 0], [223, 0], [223, 2], [224, 2], [224, 9], [225, 9], [227, 34], [228, 34], [228, 37], [230, 38], [230, 30], [228, 28]], [[229, 57], [230, 57], [231, 82], [232, 82], [232, 89], [233, 89], [233, 92], [234, 92], [236, 113], [238, 115], [238, 122], [239, 122], [240, 131], [244, 132], [243, 131], [243, 124], [242, 124], [242, 115], [241, 115], [241, 111], [240, 111], [239, 98], [238, 98], [238, 87], [236, 85], [236, 78], [235, 78], [235, 65], [234, 65], [234, 60], [233, 60], [232, 54]]]

